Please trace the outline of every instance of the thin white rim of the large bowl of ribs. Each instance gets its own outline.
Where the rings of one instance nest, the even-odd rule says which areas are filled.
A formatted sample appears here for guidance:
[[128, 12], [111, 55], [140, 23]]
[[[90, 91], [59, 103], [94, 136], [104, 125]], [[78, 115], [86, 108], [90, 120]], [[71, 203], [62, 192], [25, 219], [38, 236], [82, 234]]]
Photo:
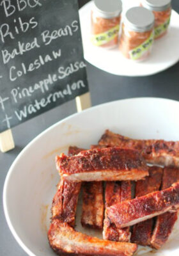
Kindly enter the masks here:
[[57, 127], [61, 123], [65, 122], [66, 120], [70, 120], [71, 118], [74, 118], [75, 116], [81, 115], [83, 113], [88, 113], [90, 111], [95, 111], [95, 109], [104, 108], [104, 106], [107, 106], [107, 105], [118, 104], [118, 102], [145, 101], [145, 100], [146, 101], [153, 101], [154, 100], [156, 102], [165, 101], [165, 102], [173, 102], [173, 103], [179, 104], [178, 100], [173, 100], [173, 99], [166, 99], [166, 98], [160, 98], [160, 97], [134, 97], [134, 98], [127, 98], [127, 99], [113, 100], [111, 102], [105, 102], [103, 104], [99, 104], [97, 106], [93, 106], [91, 108], [84, 109], [83, 111], [81, 111], [79, 113], [74, 113], [73, 115], [67, 116], [66, 118], [63, 118], [62, 120], [59, 120], [55, 124], [51, 125], [47, 129], [45, 129], [44, 131], [40, 132], [40, 134], [38, 134], [35, 138], [33, 138], [33, 140], [31, 140], [26, 145], [26, 147], [24, 147], [22, 149], [22, 151], [19, 153], [19, 155], [14, 159], [12, 165], [10, 166], [10, 168], [8, 170], [8, 173], [6, 174], [6, 178], [5, 178], [5, 181], [4, 181], [4, 187], [3, 187], [3, 209], [4, 209], [4, 215], [5, 215], [5, 218], [6, 218], [6, 222], [8, 223], [8, 227], [10, 228], [10, 231], [12, 232], [13, 237], [15, 238], [17, 243], [20, 245], [20, 247], [27, 253], [27, 255], [29, 255], [29, 256], [36, 256], [33, 252], [31, 252], [31, 250], [26, 246], [26, 244], [24, 244], [22, 242], [22, 240], [18, 236], [17, 232], [15, 231], [15, 228], [13, 227], [12, 221], [10, 220], [10, 216], [8, 214], [8, 207], [7, 207], [8, 182], [9, 182], [10, 177], [12, 175], [13, 168], [14, 168], [15, 164], [23, 156], [24, 152], [26, 152], [26, 150], [28, 150], [31, 147], [31, 145], [33, 145], [33, 143], [35, 143], [36, 140], [40, 139], [46, 132], [51, 131], [51, 129], [54, 129], [54, 127]]

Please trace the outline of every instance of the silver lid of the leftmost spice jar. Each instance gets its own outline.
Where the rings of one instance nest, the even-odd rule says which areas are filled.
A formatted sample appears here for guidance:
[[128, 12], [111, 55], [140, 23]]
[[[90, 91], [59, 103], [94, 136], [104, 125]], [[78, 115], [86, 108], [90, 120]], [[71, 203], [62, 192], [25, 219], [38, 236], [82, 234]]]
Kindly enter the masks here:
[[122, 11], [121, 0], [94, 0], [94, 11], [104, 19], [117, 17]]

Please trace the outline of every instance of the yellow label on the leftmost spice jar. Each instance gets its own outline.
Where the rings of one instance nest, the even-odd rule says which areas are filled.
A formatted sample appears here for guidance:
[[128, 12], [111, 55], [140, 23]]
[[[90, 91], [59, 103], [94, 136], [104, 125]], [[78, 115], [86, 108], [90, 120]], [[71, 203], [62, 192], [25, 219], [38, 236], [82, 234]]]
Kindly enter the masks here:
[[100, 46], [103, 44], [107, 44], [111, 40], [113, 40], [116, 36], [118, 36], [120, 26], [117, 25], [114, 28], [111, 28], [103, 33], [97, 35], [91, 35], [91, 42], [94, 45]]

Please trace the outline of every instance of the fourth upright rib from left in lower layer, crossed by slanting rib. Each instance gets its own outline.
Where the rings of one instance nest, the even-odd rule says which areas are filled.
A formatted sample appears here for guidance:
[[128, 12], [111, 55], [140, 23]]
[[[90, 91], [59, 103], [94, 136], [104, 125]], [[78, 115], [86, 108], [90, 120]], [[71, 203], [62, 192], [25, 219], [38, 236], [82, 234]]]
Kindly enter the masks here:
[[[149, 176], [144, 180], [136, 182], [136, 197], [147, 195], [160, 189], [162, 182], [163, 169], [152, 166], [149, 169]], [[173, 182], [174, 183], [174, 182]], [[150, 245], [152, 237], [153, 219], [137, 223], [132, 228], [132, 243], [141, 244], [143, 246]]]

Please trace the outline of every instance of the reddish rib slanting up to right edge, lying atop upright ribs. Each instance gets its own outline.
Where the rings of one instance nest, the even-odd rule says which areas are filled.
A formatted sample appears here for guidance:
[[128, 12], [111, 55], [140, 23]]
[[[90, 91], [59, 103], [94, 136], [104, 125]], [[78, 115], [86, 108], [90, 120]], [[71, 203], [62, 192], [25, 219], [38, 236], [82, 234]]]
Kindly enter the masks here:
[[179, 207], [179, 182], [170, 188], [112, 205], [107, 217], [118, 228], [128, 227]]

